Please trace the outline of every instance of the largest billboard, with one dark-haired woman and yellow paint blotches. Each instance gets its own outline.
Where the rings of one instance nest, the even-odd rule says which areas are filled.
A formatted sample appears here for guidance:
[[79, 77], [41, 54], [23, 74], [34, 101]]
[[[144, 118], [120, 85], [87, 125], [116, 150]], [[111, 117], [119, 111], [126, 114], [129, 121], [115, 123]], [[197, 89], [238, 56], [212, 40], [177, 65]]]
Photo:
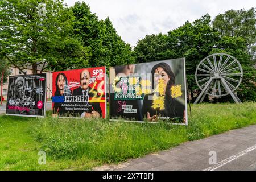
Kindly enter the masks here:
[[110, 68], [110, 118], [187, 125], [185, 59]]

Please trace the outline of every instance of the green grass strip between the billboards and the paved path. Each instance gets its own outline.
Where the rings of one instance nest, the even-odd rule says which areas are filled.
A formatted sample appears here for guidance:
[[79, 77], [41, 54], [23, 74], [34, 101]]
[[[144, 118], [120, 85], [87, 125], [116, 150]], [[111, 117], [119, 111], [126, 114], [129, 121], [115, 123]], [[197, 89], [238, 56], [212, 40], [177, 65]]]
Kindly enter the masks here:
[[[256, 103], [192, 106], [188, 126], [0, 116], [0, 169], [73, 170], [118, 163], [256, 123]], [[38, 164], [39, 150], [46, 165]]]

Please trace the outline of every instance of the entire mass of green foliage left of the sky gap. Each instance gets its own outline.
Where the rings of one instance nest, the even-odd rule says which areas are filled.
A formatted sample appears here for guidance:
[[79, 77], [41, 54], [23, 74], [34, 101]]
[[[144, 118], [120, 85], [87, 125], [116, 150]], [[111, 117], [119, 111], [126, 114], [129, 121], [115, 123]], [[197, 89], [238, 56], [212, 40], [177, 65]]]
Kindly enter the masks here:
[[[39, 3], [46, 3], [40, 16]], [[85, 2], [66, 7], [61, 0], [4, 0], [0, 2], [0, 55], [22, 69], [38, 64], [62, 71], [134, 63], [110, 19], [98, 20]]]

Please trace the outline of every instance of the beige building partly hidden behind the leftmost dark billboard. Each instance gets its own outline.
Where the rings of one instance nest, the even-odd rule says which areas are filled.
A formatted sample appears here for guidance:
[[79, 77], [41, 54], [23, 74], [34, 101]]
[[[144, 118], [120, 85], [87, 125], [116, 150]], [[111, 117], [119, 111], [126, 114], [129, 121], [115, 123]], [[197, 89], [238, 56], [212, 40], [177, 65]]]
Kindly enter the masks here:
[[[40, 67], [40, 65], [39, 65]], [[23, 68], [23, 71], [27, 73], [27, 75], [33, 74], [32, 71], [32, 66], [27, 66], [26, 68]], [[24, 75], [21, 71], [19, 71], [18, 68], [16, 68], [14, 65], [10, 66], [10, 76], [16, 76], [16, 75]], [[38, 70], [38, 73], [40, 73], [40, 70]], [[43, 71], [43, 73], [46, 73], [46, 97], [51, 98], [52, 97], [52, 71]], [[7, 82], [3, 85], [3, 98], [6, 100], [7, 99], [7, 92], [8, 92], [8, 81], [9, 78], [7, 79]], [[0, 93], [1, 97], [1, 93]]]

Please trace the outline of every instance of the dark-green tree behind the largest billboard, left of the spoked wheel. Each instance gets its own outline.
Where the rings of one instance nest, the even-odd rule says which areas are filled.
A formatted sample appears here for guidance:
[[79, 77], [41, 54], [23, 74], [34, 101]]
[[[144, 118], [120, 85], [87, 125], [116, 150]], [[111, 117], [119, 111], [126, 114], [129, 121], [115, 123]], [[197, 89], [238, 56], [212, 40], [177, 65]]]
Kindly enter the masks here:
[[196, 65], [208, 56], [219, 39], [218, 32], [209, 23], [210, 16], [207, 14], [193, 23], [185, 22], [167, 35], [147, 35], [134, 48], [137, 61], [143, 63], [185, 57], [188, 88], [192, 100], [195, 100], [193, 90], [198, 89], [195, 84]]

